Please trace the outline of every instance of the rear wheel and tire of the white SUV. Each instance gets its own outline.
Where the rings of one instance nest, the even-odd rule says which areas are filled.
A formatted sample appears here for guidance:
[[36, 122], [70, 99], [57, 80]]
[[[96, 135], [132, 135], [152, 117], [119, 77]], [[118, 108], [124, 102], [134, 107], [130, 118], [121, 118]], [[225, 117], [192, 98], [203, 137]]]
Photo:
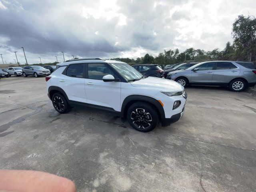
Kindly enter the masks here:
[[61, 114], [68, 113], [71, 110], [66, 98], [61, 93], [55, 93], [52, 96], [52, 105]]

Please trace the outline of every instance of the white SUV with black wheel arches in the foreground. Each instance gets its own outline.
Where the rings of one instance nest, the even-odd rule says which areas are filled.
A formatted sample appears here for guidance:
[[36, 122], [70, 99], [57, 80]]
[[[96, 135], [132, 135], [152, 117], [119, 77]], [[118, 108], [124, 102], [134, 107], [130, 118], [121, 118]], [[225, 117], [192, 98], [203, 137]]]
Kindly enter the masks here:
[[162, 126], [178, 121], [187, 98], [177, 82], [145, 77], [124, 62], [100, 58], [57, 64], [46, 86], [59, 113], [76, 105], [104, 109], [126, 117], [142, 132], [153, 130], [159, 121]]

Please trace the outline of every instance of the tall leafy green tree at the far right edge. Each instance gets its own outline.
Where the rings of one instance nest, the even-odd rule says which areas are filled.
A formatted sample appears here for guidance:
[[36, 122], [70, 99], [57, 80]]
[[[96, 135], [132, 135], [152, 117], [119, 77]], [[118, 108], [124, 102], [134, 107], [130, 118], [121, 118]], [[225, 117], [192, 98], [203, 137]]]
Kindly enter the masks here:
[[239, 15], [232, 25], [235, 56], [239, 60], [255, 60], [256, 57], [256, 18]]

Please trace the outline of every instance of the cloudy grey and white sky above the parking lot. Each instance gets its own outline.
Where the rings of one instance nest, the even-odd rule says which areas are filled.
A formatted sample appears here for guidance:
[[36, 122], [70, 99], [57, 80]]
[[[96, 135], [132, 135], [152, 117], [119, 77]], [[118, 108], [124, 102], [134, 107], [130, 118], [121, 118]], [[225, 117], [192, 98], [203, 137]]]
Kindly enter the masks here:
[[[0, 0], [0, 54], [29, 64], [76, 57], [156, 56], [164, 49], [223, 49], [255, 0]], [[2, 60], [0, 59], [0, 63]]]

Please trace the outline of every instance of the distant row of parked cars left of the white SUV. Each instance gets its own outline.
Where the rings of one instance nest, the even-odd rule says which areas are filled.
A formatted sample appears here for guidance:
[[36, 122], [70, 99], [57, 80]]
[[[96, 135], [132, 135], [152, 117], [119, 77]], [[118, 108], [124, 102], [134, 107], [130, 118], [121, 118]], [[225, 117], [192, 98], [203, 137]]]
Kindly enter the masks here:
[[9, 76], [48, 76], [54, 70], [56, 66], [53, 65], [46, 65], [46, 66], [24, 66], [22, 67], [8, 67], [4, 69], [0, 69], [0, 78], [1, 77], [9, 77]]

